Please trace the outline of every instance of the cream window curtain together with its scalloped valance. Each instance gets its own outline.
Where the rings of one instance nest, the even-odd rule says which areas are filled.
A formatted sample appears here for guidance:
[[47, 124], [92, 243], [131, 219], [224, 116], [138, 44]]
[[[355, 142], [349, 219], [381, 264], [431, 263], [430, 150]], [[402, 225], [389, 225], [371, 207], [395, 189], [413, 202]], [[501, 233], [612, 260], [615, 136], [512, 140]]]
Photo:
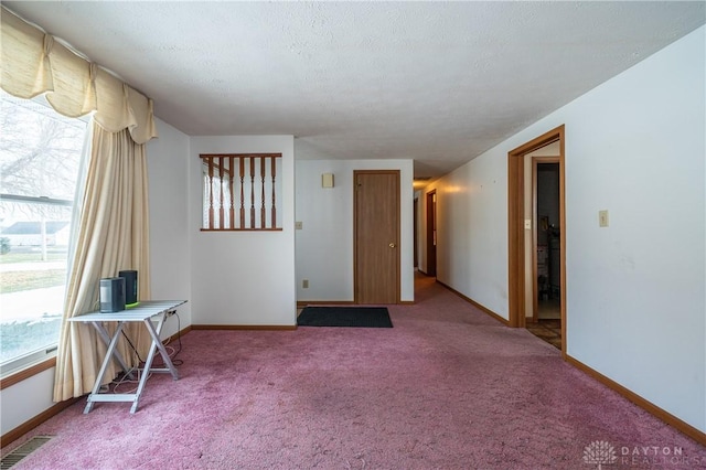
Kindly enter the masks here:
[[[77, 203], [64, 318], [96, 310], [100, 278], [138, 271], [139, 300], [150, 299], [149, 213], [145, 143], [157, 137], [152, 100], [62, 41], [0, 7], [0, 86], [11, 95], [46, 94], [65, 116], [93, 113], [85, 188]], [[119, 350], [129, 366], [145, 357], [145, 325], [126, 329]], [[56, 357], [54, 400], [90, 392], [106, 346], [95, 331], [64, 321]], [[119, 371], [115, 364], [106, 374]]]

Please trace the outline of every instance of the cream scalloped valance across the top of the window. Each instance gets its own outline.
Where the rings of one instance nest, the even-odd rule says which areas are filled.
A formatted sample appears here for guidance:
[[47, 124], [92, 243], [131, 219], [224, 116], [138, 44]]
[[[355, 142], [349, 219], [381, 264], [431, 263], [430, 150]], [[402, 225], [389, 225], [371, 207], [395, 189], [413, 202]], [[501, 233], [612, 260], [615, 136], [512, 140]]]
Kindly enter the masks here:
[[1, 13], [2, 89], [20, 98], [46, 93], [64, 116], [95, 111], [100, 127], [110, 132], [128, 129], [137, 143], [157, 137], [150, 98], [7, 8]]

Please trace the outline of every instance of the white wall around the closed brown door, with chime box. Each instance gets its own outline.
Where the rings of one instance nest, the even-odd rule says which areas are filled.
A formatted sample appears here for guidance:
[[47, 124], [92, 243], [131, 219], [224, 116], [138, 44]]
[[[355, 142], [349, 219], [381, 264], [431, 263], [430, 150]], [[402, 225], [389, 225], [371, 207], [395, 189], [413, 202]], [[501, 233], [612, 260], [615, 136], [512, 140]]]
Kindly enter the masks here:
[[[413, 161], [298, 160], [297, 300], [353, 301], [353, 171], [399, 170], [400, 300], [414, 300]], [[334, 188], [321, 188], [321, 174], [334, 174]], [[309, 279], [309, 288], [302, 288]]]

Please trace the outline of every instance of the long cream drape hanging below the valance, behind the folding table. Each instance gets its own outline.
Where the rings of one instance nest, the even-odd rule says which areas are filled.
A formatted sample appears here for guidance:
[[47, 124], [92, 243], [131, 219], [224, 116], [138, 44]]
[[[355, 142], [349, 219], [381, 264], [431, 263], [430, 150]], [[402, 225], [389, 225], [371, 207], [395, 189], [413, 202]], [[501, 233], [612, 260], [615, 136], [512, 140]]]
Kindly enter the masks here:
[[[90, 158], [75, 254], [71, 265], [64, 318], [96, 310], [100, 278], [122, 269], [138, 271], [139, 300], [150, 299], [149, 209], [145, 145], [136, 143], [127, 130], [109, 132], [93, 124]], [[109, 324], [106, 325], [110, 328]], [[118, 350], [128, 366], [145, 357], [150, 337], [142, 323], [126, 325]], [[54, 400], [90, 392], [105, 356], [106, 345], [93, 327], [64, 321], [58, 342]], [[119, 373], [111, 364], [105, 375], [110, 382]]]

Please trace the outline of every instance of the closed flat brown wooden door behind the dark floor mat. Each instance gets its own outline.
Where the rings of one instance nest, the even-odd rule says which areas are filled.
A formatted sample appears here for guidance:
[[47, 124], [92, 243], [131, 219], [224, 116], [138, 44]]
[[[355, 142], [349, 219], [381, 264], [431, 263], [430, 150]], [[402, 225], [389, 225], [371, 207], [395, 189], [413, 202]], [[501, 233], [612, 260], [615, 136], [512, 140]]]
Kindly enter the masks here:
[[354, 178], [356, 303], [399, 302], [399, 171], [357, 170]]

